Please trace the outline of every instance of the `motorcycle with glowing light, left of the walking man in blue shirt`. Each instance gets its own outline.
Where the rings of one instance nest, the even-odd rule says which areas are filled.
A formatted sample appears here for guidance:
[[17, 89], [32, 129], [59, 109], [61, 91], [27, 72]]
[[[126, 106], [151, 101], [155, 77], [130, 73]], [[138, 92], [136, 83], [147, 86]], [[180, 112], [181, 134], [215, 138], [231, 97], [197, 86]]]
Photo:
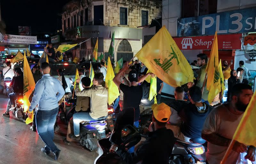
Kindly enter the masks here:
[[11, 109], [13, 116], [25, 123], [26, 119], [28, 118], [28, 114], [24, 112], [23, 94], [19, 94], [14, 104], [14, 108]]

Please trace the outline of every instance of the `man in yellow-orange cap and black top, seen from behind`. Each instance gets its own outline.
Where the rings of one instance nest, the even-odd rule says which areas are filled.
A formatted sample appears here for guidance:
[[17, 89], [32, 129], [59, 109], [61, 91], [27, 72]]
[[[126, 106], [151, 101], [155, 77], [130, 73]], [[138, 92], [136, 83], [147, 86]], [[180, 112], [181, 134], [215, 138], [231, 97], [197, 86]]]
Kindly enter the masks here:
[[128, 153], [119, 149], [117, 145], [112, 145], [109, 151], [116, 152], [126, 163], [141, 161], [142, 164], [168, 164], [175, 140], [172, 130], [165, 128], [171, 116], [171, 110], [164, 103], [152, 105], [152, 110], [153, 131], [149, 132], [149, 138], [136, 152]]

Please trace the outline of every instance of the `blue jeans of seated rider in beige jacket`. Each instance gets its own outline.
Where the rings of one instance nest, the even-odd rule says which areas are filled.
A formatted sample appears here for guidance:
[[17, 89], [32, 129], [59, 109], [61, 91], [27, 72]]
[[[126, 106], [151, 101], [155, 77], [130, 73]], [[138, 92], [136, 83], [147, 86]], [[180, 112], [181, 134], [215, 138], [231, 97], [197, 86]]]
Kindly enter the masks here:
[[102, 120], [107, 118], [107, 116], [104, 117], [100, 117], [97, 119], [93, 119], [89, 112], [79, 112], [79, 113], [75, 113], [73, 115], [73, 122], [74, 122], [74, 134], [75, 136], [79, 136], [80, 134], [80, 123], [82, 121], [97, 121], [97, 120]]

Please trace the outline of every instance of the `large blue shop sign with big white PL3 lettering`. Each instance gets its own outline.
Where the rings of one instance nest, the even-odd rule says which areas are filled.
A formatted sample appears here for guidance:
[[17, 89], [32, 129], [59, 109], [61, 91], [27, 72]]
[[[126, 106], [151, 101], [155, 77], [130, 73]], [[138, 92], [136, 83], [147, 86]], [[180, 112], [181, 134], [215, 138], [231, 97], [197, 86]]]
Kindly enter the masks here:
[[256, 31], [256, 8], [178, 19], [177, 36], [236, 34]]

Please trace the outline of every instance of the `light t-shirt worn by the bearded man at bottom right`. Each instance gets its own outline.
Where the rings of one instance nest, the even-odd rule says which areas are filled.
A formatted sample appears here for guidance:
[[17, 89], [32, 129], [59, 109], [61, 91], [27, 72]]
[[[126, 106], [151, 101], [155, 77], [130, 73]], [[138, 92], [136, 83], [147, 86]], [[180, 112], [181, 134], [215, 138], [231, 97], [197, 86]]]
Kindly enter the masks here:
[[[235, 115], [231, 113], [224, 105], [213, 109], [207, 116], [204, 122], [204, 128], [202, 133], [212, 134], [215, 133], [221, 137], [232, 139], [236, 131], [236, 128], [242, 119], [242, 115]], [[218, 146], [208, 142], [208, 151], [206, 152], [206, 159], [210, 164], [220, 164], [220, 161], [224, 157], [228, 147]], [[240, 161], [240, 153], [236, 153], [231, 150], [228, 159], [228, 163], [236, 164]]]

